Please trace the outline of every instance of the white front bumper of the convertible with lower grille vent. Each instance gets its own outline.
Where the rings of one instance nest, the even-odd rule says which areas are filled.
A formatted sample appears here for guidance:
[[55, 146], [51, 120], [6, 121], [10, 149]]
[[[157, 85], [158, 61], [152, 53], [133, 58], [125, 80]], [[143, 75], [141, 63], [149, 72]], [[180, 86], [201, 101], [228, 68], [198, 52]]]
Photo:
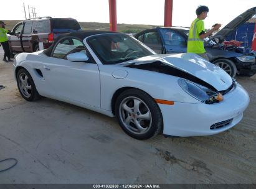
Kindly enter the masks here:
[[[175, 103], [174, 106], [159, 104], [164, 118], [163, 132], [183, 137], [217, 134], [238, 124], [248, 105], [249, 94], [238, 83], [235, 90], [225, 94], [224, 101], [220, 103]], [[213, 124], [227, 119], [233, 119], [229, 126], [210, 130]]]

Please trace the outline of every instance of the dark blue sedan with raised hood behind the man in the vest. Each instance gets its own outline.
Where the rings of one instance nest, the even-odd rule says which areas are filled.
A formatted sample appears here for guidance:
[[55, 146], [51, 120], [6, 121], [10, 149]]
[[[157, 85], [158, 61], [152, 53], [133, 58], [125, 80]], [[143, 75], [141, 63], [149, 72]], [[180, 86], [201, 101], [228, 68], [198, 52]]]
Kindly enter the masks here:
[[[239, 25], [255, 15], [256, 7], [245, 11], [240, 16], [205, 40], [206, 54], [209, 61], [224, 69], [230, 76], [236, 74], [252, 76], [256, 71], [254, 56], [235, 52], [234, 48], [224, 49], [225, 37]], [[156, 53], [183, 53], [187, 51], [188, 27], [156, 27], [135, 34], [134, 37]]]

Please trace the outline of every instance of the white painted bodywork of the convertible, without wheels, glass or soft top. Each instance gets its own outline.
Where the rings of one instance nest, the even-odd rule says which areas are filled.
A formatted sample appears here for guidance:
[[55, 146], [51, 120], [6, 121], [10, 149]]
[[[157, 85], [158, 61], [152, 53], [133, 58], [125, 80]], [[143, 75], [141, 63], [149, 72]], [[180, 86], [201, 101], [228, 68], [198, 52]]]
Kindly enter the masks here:
[[[88, 44], [85, 46], [92, 57], [97, 57]], [[104, 65], [100, 59], [94, 59], [97, 63], [47, 57], [42, 51], [21, 53], [14, 62], [14, 74], [17, 67], [23, 67], [31, 74], [42, 96], [107, 116], [114, 116], [112, 98], [122, 88], [138, 88], [154, 99], [174, 101], [173, 105], [158, 104], [163, 115], [163, 133], [171, 136], [206, 136], [225, 131], [242, 119], [249, 105], [249, 95], [238, 83], [224, 95], [223, 101], [205, 104], [178, 85], [178, 76], [126, 67], [130, 63], [140, 65], [159, 61], [209, 83], [218, 91], [227, 90], [232, 85], [232, 78], [224, 70], [192, 53], [151, 55], [120, 65]], [[41, 70], [43, 76], [36, 69]], [[232, 119], [228, 126], [210, 129], [212, 124], [227, 119]]]

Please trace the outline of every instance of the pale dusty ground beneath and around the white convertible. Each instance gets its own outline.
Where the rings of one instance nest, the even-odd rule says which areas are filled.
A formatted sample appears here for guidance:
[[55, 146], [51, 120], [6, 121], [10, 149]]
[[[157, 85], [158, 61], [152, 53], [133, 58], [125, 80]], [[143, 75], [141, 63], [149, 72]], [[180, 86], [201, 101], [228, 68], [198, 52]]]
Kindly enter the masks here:
[[237, 81], [250, 105], [229, 131], [137, 141], [114, 118], [49, 98], [25, 101], [11, 63], [0, 60], [0, 160], [18, 160], [0, 183], [256, 183], [256, 76]]

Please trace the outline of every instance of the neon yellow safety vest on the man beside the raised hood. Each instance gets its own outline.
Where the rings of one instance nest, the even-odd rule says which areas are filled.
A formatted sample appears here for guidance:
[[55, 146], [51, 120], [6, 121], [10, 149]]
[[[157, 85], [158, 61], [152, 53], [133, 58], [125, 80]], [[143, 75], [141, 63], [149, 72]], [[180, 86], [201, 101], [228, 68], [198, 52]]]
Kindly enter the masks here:
[[204, 22], [200, 19], [195, 19], [189, 29], [189, 37], [187, 39], [187, 52], [205, 53], [204, 40], [199, 37], [201, 32], [204, 32]]

